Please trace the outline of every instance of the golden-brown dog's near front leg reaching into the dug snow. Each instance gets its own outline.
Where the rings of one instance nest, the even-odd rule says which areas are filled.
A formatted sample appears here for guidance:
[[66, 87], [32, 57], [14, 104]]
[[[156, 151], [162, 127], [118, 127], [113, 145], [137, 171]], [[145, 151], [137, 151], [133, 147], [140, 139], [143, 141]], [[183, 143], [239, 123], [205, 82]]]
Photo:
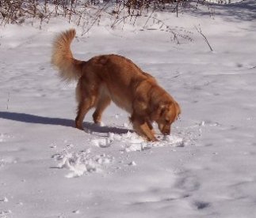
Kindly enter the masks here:
[[133, 114], [130, 120], [132, 122], [133, 129], [136, 131], [136, 133], [146, 138], [147, 141], [158, 141], [153, 131], [151, 130], [151, 127], [148, 125], [146, 118]]

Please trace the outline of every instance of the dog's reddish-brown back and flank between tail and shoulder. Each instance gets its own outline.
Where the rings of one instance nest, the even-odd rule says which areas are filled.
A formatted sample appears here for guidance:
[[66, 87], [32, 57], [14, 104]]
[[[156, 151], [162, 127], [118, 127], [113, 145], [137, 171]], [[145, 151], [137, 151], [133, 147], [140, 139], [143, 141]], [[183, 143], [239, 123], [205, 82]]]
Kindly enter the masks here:
[[132, 113], [132, 101], [139, 85], [143, 81], [156, 84], [149, 73], [144, 73], [131, 60], [117, 54], [91, 58], [84, 64], [82, 72], [83, 85], [94, 84], [100, 93], [107, 93], [117, 106], [129, 113]]

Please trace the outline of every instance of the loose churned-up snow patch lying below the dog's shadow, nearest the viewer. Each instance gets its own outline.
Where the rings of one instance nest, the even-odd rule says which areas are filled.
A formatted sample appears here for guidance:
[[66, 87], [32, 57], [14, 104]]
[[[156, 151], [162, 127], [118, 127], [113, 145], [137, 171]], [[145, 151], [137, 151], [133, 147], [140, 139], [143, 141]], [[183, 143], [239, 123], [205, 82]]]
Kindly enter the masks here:
[[74, 178], [91, 172], [101, 172], [102, 166], [113, 162], [112, 156], [105, 154], [94, 155], [90, 149], [82, 152], [68, 152], [65, 149], [62, 153], [53, 156], [59, 162], [58, 168], [66, 168], [70, 172], [67, 178]]

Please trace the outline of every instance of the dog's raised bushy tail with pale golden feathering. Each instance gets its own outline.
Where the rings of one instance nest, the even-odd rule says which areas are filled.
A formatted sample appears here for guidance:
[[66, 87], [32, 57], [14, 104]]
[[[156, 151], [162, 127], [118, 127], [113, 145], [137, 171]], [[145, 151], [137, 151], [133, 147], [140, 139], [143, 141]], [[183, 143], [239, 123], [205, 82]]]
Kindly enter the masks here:
[[52, 48], [52, 65], [59, 70], [59, 76], [64, 81], [76, 81], [82, 76], [82, 66], [85, 62], [73, 57], [71, 42], [75, 38], [75, 29], [61, 32], [56, 36]]

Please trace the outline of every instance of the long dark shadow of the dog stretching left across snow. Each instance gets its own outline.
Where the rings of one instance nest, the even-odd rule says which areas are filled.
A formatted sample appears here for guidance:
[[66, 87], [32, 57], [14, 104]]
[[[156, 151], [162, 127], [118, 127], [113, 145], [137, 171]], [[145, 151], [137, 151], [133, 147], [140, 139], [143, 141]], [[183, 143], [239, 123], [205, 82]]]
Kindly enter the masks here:
[[[0, 118], [5, 118], [18, 122], [28, 122], [28, 123], [38, 123], [44, 125], [59, 125], [59, 126], [70, 126], [74, 127], [75, 122], [71, 119], [66, 118], [48, 118], [38, 115], [29, 115], [25, 113], [16, 113], [16, 112], [8, 112], [8, 111], [0, 111]], [[113, 126], [99, 126], [97, 124], [91, 122], [83, 122], [83, 126], [89, 132], [96, 133], [117, 133], [123, 134], [128, 132], [133, 132], [132, 130], [113, 127]]]

